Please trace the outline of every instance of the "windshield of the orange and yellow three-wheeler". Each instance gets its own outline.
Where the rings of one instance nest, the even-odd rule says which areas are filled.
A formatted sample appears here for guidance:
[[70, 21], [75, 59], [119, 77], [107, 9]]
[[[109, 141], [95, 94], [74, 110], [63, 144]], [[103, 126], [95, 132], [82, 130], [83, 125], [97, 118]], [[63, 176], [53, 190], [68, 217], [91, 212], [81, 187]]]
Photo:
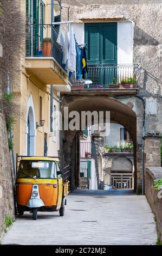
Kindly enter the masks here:
[[17, 178], [56, 179], [56, 162], [21, 160]]

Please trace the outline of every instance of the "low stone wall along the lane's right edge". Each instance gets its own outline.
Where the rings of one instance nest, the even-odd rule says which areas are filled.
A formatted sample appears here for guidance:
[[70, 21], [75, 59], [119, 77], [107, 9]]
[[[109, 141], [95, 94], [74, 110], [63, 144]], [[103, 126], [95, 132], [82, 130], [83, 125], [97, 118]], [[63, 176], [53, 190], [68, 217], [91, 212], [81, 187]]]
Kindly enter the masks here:
[[[162, 178], [161, 167], [147, 167], [146, 168], [146, 182], [145, 182], [145, 194], [148, 203], [151, 206], [155, 220], [157, 223], [157, 231], [159, 239], [162, 242], [162, 198], [158, 197], [158, 190], [154, 190], [153, 183], [155, 179]], [[162, 191], [161, 191], [162, 197]]]

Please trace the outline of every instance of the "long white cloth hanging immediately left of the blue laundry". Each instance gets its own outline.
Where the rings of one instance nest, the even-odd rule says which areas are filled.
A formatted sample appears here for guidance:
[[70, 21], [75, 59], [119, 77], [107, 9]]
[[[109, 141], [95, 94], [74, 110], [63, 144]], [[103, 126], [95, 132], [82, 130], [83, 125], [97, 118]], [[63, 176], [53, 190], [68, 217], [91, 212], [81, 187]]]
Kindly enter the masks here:
[[76, 71], [76, 48], [73, 27], [70, 27], [70, 46], [68, 52], [68, 69], [69, 71]]

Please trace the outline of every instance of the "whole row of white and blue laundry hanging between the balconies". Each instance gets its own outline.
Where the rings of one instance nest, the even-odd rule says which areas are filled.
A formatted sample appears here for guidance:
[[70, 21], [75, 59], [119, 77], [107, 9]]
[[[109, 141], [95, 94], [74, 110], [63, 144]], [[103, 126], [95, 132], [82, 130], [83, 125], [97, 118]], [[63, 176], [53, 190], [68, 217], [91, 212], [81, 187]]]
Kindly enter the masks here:
[[60, 26], [57, 43], [63, 51], [62, 63], [69, 74], [69, 78], [74, 76], [76, 80], [85, 79], [87, 69], [86, 44], [77, 44], [76, 36], [73, 32], [73, 26], [66, 27], [66, 33], [63, 34]]

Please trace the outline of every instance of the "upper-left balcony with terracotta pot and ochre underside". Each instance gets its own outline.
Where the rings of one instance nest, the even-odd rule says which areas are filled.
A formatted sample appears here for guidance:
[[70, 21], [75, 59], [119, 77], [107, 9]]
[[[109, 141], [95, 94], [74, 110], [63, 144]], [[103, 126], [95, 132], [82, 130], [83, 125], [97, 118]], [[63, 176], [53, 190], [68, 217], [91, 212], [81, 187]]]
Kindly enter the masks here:
[[25, 68], [43, 84], [54, 84], [57, 90], [69, 92], [68, 74], [62, 64], [63, 52], [56, 42], [57, 36], [52, 25], [28, 25]]

